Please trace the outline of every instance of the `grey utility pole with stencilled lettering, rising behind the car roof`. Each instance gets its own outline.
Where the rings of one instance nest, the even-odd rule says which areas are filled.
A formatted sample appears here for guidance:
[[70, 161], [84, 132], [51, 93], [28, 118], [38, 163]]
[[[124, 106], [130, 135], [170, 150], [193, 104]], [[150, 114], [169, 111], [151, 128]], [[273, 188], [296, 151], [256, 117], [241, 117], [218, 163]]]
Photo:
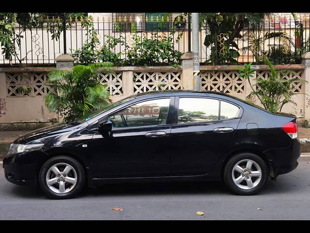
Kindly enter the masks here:
[[199, 57], [199, 13], [192, 13], [192, 28], [193, 28], [193, 75], [194, 75], [194, 91], [200, 91], [200, 57]]

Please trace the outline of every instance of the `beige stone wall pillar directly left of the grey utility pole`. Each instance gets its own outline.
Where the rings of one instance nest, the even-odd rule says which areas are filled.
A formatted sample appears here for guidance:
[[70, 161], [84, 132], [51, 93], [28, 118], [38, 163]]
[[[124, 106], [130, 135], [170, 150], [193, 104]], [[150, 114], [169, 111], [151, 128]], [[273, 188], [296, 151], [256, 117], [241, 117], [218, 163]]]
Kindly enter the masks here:
[[184, 90], [194, 89], [193, 53], [186, 52], [181, 57], [182, 87]]

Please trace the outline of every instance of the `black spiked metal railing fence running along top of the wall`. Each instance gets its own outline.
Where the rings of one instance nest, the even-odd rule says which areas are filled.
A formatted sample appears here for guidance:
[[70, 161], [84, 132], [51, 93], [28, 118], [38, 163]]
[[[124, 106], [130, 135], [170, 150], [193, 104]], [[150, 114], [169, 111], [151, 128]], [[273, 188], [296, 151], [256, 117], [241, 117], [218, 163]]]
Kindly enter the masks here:
[[[165, 36], [171, 47], [163, 50], [170, 56], [171, 50], [182, 53], [191, 50], [189, 25], [188, 17], [139, 20], [131, 17], [47, 17], [40, 26], [26, 30], [16, 25], [15, 30], [21, 35], [20, 45], [16, 43], [16, 54], [11, 61], [0, 54], [0, 66], [55, 66], [55, 57], [62, 53], [76, 53], [78, 63], [83, 59], [101, 61], [111, 57], [113, 62], [126, 64], [133, 50], [135, 58], [143, 55], [139, 43], [146, 46], [147, 43], [142, 45], [142, 42], [159, 42]], [[299, 21], [271, 18], [260, 24], [244, 25], [231, 40], [231, 29], [209, 28], [207, 23], [202, 23], [200, 61], [202, 65], [262, 64], [261, 59], [266, 56], [274, 64], [298, 64], [301, 54], [310, 51], [309, 26], [309, 17]], [[83, 51], [77, 53], [83, 46]], [[154, 54], [158, 50], [155, 47]], [[159, 63], [164, 65], [165, 61]]]

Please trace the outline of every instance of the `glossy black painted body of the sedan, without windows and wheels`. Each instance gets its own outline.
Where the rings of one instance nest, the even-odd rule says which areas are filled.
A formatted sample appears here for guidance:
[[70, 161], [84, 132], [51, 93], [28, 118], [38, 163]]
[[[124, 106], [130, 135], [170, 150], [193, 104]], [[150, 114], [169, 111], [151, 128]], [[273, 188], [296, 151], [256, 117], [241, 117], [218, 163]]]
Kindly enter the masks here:
[[[200, 97], [225, 100], [240, 107], [233, 119], [177, 124], [178, 98]], [[166, 125], [113, 129], [110, 136], [97, 132], [99, 120], [139, 101], [171, 98]], [[293, 170], [300, 155], [298, 139], [291, 139], [282, 126], [294, 115], [272, 114], [243, 100], [215, 92], [171, 91], [137, 95], [78, 125], [58, 124], [18, 138], [14, 143], [44, 143], [38, 151], [13, 154], [4, 159], [7, 180], [36, 184], [40, 167], [55, 155], [70, 155], [84, 166], [88, 185], [124, 181], [220, 180], [227, 159], [241, 151], [260, 155], [270, 175]], [[256, 124], [257, 128], [253, 125]], [[233, 132], [215, 133], [218, 127]], [[163, 137], [144, 134], [163, 131]], [[82, 145], [86, 144], [84, 148]], [[140, 178], [140, 179], [137, 179]]]

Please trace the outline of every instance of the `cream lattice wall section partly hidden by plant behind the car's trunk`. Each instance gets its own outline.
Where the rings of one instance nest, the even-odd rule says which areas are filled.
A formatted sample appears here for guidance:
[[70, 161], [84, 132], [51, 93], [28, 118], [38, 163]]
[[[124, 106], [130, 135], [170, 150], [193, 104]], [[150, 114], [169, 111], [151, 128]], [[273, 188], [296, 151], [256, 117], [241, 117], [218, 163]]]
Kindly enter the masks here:
[[[267, 79], [270, 74], [269, 70], [258, 70], [256, 71], [256, 78]], [[291, 88], [295, 93], [302, 93], [303, 83], [299, 81], [302, 80], [302, 70], [278, 70], [278, 75], [286, 80], [296, 79], [296, 82], [292, 83]]]

